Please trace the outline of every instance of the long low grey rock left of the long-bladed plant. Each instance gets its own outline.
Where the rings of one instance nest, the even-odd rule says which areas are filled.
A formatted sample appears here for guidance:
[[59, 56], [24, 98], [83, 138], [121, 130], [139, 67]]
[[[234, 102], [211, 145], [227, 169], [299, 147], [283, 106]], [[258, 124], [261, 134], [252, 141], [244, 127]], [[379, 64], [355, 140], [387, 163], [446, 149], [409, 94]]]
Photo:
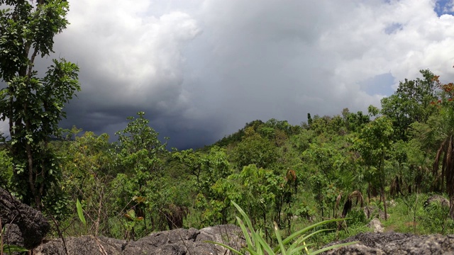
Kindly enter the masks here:
[[[173, 229], [156, 232], [137, 241], [124, 241], [106, 237], [69, 237], [65, 239], [65, 245], [61, 239], [55, 239], [42, 244], [33, 250], [37, 255], [60, 255], [60, 254], [228, 254], [226, 249], [216, 244], [205, 241], [220, 242], [240, 249], [244, 239], [241, 229], [236, 225], [218, 225], [204, 229]], [[65, 246], [67, 251], [65, 251]]]

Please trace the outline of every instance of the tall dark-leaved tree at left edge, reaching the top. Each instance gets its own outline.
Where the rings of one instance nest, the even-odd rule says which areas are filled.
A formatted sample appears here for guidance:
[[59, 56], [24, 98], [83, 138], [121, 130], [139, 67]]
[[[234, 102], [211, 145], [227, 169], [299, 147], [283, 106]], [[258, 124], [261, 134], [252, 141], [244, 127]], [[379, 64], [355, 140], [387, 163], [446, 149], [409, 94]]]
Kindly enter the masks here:
[[[53, 38], [66, 28], [68, 3], [63, 0], [0, 0], [1, 120], [8, 121], [16, 192], [24, 203], [40, 210], [46, 191], [59, 178], [49, 137], [60, 135], [63, 107], [80, 86], [79, 67], [64, 59], [52, 60], [44, 77], [33, 68], [35, 58], [47, 57]], [[4, 139], [6, 139], [4, 137]]]

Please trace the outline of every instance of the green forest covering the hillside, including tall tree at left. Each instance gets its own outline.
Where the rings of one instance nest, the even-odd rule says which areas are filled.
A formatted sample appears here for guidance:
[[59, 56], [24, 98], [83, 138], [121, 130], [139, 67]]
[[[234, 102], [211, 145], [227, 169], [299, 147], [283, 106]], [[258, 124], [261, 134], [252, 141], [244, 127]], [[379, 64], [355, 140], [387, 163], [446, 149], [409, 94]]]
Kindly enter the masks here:
[[[0, 186], [52, 219], [52, 236], [134, 240], [236, 223], [233, 202], [270, 242], [273, 222], [288, 235], [345, 219], [312, 237], [323, 244], [370, 231], [374, 217], [387, 230], [453, 234], [454, 84], [429, 69], [400, 81], [367, 113], [307, 113], [301, 125], [253, 120], [213, 145], [179, 150], [138, 112], [109, 142], [107, 134], [59, 127], [80, 89], [79, 67], [53, 60], [43, 78], [33, 69], [67, 26], [66, 1], [37, 4], [0, 10], [0, 113], [10, 131]], [[435, 194], [449, 205], [424, 203]]]

